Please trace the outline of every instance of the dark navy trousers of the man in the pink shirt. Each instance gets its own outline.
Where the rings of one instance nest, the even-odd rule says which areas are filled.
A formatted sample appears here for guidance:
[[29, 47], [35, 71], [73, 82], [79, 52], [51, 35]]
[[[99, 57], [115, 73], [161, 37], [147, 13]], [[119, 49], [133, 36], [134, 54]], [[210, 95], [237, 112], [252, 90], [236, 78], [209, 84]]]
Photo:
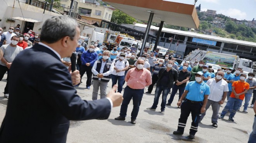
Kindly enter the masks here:
[[140, 109], [140, 103], [144, 94], [144, 89], [131, 89], [126, 86], [123, 94], [123, 102], [120, 109], [120, 116], [126, 117], [126, 112], [128, 108], [128, 104], [133, 101], [133, 109], [131, 111], [131, 118], [136, 119], [138, 116], [138, 111]]

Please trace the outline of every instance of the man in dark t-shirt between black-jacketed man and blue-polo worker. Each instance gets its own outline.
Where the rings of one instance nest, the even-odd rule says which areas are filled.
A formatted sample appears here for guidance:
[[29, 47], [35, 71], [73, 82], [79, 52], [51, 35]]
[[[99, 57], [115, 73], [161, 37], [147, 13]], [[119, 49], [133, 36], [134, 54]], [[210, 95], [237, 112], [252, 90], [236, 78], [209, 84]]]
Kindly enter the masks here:
[[[173, 102], [173, 98], [178, 90], [179, 90], [179, 100], [180, 100], [180, 97], [182, 96], [185, 90], [185, 87], [187, 85], [187, 81], [189, 81], [189, 78], [191, 76], [191, 73], [189, 72], [189, 70], [187, 70], [188, 67], [189, 67], [188, 63], [183, 63], [183, 69], [178, 71], [178, 74], [179, 74], [178, 80], [176, 80], [173, 85], [173, 90], [171, 91], [171, 97], [168, 100], [168, 103], [166, 105], [169, 105], [169, 106], [171, 105], [171, 103]], [[178, 106], [178, 108], [180, 108], [180, 106]]]

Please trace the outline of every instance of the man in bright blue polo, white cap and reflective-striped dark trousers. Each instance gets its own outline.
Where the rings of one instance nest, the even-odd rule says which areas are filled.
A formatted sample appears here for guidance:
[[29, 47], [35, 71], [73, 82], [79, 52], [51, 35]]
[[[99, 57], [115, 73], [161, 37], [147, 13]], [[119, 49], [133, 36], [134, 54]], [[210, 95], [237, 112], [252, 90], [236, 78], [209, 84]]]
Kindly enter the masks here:
[[187, 124], [187, 119], [191, 112], [192, 123], [189, 132], [190, 139], [195, 138], [200, 115], [206, 111], [205, 107], [208, 100], [208, 95], [210, 94], [210, 87], [202, 80], [203, 73], [197, 72], [194, 75], [196, 81], [189, 82], [186, 85], [185, 92], [182, 94], [182, 97], [180, 97], [180, 100], [177, 103], [178, 106], [181, 106], [181, 114], [178, 129], [177, 131], [173, 132], [173, 134], [183, 134], [184, 128]]

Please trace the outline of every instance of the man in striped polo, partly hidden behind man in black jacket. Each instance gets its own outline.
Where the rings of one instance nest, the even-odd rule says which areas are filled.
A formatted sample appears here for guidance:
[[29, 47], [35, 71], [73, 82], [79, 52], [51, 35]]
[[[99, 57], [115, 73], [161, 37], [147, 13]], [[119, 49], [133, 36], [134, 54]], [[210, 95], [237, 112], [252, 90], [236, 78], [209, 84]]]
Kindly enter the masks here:
[[164, 59], [160, 59], [159, 60], [159, 63], [157, 63], [156, 65], [153, 66], [153, 69], [152, 69], [152, 72], [153, 72], [153, 75], [152, 75], [152, 84], [149, 85], [149, 88], [147, 89], [147, 92], [146, 94], [151, 94], [152, 90], [153, 90], [153, 87], [155, 85], [155, 83], [157, 82], [158, 80], [158, 72], [160, 70], [160, 68], [163, 68], [165, 67], [165, 65], [163, 64], [164, 63]]

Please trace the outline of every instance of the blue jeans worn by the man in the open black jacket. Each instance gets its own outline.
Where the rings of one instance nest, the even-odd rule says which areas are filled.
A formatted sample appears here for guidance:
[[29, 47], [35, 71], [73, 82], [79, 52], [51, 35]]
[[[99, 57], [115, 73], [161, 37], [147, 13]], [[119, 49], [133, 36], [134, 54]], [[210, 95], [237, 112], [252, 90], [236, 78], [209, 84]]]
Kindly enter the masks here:
[[154, 98], [154, 103], [152, 105], [153, 108], [157, 107], [158, 101], [159, 101], [159, 97], [161, 95], [161, 92], [163, 91], [163, 95], [162, 95], [162, 103], [161, 103], [161, 111], [165, 109], [165, 105], [166, 105], [166, 97], [168, 95], [170, 88], [165, 87], [163, 85], [159, 85], [156, 87], [156, 94], [155, 94], [155, 98]]

